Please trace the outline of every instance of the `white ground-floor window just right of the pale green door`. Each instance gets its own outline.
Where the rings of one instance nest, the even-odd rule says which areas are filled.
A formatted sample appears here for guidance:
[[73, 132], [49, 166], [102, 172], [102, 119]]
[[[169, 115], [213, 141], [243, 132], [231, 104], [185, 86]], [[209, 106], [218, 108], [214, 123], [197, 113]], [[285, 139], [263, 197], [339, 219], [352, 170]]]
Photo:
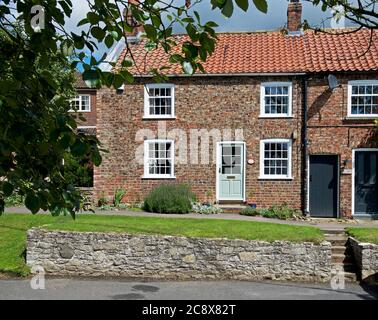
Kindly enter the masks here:
[[260, 179], [291, 178], [291, 140], [261, 140]]

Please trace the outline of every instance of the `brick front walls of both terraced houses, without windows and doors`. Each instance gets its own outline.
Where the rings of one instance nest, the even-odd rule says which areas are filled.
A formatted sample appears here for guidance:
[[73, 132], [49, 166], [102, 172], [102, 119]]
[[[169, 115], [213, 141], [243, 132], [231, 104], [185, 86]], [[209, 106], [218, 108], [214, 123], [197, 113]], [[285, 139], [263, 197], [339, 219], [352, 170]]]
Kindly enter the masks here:
[[[338, 75], [341, 87], [331, 92], [325, 76], [314, 76], [308, 86], [309, 154], [340, 155], [340, 213], [351, 215], [351, 175], [343, 174], [344, 160], [350, 160], [352, 149], [373, 146], [373, 122], [346, 120], [347, 81], [378, 79], [371, 75]], [[137, 203], [155, 186], [162, 183], [186, 183], [202, 201], [216, 200], [216, 164], [175, 164], [175, 179], [144, 179], [144, 166], [137, 163], [135, 152], [143, 144], [140, 129], [157, 132], [164, 122], [167, 131], [182, 129], [242, 129], [246, 142], [246, 196], [258, 207], [288, 204], [304, 209], [303, 187], [303, 76], [297, 77], [176, 77], [175, 115], [172, 120], [144, 120], [144, 86], [152, 80], [144, 78], [124, 91], [101, 89], [97, 92], [97, 135], [109, 153], [95, 168], [96, 197], [112, 197], [117, 188], [127, 190], [125, 201]], [[293, 84], [293, 117], [260, 118], [260, 84], [267, 81], [290, 81]], [[259, 179], [260, 140], [292, 139], [292, 180]], [[234, 137], [231, 137], [233, 140]], [[176, 140], [176, 149], [178, 141]], [[210, 143], [210, 149], [215, 146]], [[210, 150], [212, 154], [213, 150]], [[176, 150], [176, 160], [179, 154]], [[190, 159], [188, 152], [187, 158]], [[349, 164], [351, 166], [351, 164]]]

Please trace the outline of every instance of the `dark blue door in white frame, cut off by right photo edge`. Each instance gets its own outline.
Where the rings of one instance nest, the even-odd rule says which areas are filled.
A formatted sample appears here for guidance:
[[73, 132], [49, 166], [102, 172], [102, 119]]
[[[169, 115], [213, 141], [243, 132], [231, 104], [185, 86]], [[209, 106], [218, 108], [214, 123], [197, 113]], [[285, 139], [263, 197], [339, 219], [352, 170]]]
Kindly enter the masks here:
[[378, 213], [378, 151], [356, 151], [354, 213]]

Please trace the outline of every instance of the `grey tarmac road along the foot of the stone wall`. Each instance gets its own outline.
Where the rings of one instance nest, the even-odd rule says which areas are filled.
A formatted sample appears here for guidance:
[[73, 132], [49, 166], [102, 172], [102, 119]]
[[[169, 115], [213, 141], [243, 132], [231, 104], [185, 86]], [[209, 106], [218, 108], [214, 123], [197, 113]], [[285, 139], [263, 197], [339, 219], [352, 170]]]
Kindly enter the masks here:
[[378, 291], [347, 283], [344, 290], [329, 284], [282, 282], [129, 282], [47, 278], [45, 290], [33, 290], [30, 280], [0, 280], [0, 300], [5, 299], [105, 299], [105, 300], [361, 300], [378, 299]]

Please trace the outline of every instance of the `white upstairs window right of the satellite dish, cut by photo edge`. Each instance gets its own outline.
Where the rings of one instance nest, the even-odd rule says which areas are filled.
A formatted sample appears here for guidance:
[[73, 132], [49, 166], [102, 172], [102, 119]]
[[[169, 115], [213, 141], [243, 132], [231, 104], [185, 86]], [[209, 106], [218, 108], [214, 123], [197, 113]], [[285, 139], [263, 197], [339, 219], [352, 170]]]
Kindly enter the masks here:
[[378, 117], [378, 80], [348, 83], [348, 117]]

